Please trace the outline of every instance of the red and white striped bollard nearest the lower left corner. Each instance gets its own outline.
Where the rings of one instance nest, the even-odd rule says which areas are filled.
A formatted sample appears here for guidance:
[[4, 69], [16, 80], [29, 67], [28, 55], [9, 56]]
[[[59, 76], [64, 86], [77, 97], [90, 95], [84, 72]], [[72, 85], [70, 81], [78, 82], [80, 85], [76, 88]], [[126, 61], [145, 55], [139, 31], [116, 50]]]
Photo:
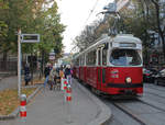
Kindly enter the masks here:
[[21, 102], [20, 102], [20, 117], [22, 122], [26, 122], [26, 95], [21, 94]]

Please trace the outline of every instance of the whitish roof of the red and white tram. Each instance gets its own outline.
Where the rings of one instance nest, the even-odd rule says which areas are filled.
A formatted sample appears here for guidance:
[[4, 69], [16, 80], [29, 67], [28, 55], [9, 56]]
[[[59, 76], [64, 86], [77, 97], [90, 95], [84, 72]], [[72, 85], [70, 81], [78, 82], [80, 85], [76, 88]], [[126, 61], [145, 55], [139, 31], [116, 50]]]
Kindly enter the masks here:
[[75, 58], [79, 57], [80, 55], [85, 54], [86, 52], [92, 49], [94, 47], [100, 45], [100, 44], [105, 44], [105, 43], [136, 43], [136, 44], [142, 44], [141, 39], [138, 37], [134, 37], [132, 34], [118, 34], [117, 36], [107, 36], [105, 38], [98, 39], [97, 43], [95, 43], [94, 45], [89, 46], [88, 48], [86, 48], [84, 52], [81, 52], [80, 54], [76, 55]]

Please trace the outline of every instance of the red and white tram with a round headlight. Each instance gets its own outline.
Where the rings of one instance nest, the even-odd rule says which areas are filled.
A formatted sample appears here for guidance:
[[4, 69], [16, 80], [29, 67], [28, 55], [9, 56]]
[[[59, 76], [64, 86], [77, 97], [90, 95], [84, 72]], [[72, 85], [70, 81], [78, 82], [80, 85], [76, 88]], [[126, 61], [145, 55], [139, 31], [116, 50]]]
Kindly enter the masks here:
[[74, 76], [106, 94], [142, 95], [142, 42], [129, 34], [107, 36], [78, 54]]

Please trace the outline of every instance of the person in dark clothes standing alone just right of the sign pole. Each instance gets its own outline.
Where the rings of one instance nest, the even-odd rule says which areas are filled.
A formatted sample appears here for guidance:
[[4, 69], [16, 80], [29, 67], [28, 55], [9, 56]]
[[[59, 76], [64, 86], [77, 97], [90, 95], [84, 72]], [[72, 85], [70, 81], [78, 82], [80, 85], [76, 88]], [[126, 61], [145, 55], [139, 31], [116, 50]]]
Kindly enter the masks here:
[[30, 66], [29, 66], [29, 64], [25, 64], [25, 66], [24, 66], [24, 81], [25, 81], [25, 86], [28, 86], [29, 82], [31, 81]]

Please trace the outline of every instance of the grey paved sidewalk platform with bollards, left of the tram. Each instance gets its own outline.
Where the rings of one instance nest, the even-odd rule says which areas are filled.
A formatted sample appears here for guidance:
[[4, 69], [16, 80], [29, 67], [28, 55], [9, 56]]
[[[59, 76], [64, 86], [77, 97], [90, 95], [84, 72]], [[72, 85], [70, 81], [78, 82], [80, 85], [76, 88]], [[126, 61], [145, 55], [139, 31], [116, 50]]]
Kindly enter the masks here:
[[[102, 107], [95, 102], [89, 93], [86, 93], [76, 80], [73, 80], [73, 101], [70, 118], [67, 113], [67, 105], [62, 91], [42, 90], [35, 99], [28, 105], [28, 117], [25, 125], [88, 125], [95, 123], [96, 118], [105, 113]], [[84, 88], [85, 89], [85, 88]], [[91, 93], [90, 93], [91, 94]], [[96, 96], [92, 96], [96, 98]], [[105, 106], [105, 105], [103, 105]], [[106, 107], [106, 106], [105, 106]], [[107, 118], [111, 113], [106, 109]], [[68, 120], [72, 122], [68, 123]], [[24, 125], [20, 118], [2, 122], [0, 125]], [[91, 125], [91, 124], [89, 124]], [[97, 125], [96, 123], [92, 125]]]

